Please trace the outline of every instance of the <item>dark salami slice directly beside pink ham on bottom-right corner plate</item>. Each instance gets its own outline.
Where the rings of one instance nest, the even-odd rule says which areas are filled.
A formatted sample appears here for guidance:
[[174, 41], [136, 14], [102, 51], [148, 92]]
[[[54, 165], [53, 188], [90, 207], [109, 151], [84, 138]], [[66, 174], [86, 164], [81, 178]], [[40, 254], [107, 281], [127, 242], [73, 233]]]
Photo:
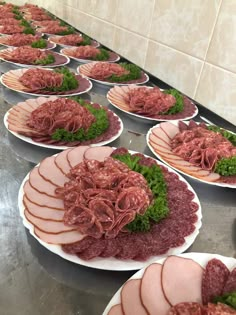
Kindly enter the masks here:
[[202, 302], [212, 302], [216, 296], [222, 295], [229, 270], [220, 260], [214, 258], [208, 261], [202, 277]]

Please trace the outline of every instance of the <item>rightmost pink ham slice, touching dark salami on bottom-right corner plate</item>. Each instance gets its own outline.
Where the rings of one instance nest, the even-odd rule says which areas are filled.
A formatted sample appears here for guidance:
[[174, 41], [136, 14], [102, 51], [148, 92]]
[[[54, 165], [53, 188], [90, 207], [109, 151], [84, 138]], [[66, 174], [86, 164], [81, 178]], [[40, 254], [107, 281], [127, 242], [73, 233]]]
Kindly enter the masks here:
[[201, 303], [202, 275], [202, 267], [192, 259], [169, 256], [162, 269], [163, 291], [169, 303]]

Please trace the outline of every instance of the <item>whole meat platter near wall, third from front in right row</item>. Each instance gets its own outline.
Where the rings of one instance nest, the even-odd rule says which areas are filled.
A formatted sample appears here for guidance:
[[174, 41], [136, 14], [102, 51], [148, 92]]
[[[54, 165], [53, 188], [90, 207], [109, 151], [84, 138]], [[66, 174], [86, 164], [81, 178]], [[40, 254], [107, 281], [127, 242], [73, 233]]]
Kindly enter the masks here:
[[[174, 89], [166, 90], [168, 94], [164, 92], [158, 87], [114, 86], [108, 92], [107, 99], [114, 107], [128, 115], [150, 122], [185, 120], [198, 114], [197, 106], [186, 96]], [[177, 93], [176, 97], [171, 93]], [[162, 114], [163, 112], [166, 114]]]

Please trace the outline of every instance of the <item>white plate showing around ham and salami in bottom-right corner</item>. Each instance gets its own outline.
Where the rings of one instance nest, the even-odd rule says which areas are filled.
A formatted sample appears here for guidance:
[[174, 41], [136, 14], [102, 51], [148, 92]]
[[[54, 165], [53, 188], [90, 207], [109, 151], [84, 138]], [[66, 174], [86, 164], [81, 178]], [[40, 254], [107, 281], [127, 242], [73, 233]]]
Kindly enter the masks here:
[[[208, 253], [186, 253], [186, 254], [180, 254], [178, 255], [179, 257], [183, 257], [183, 258], [190, 258], [194, 261], [196, 261], [197, 263], [199, 263], [199, 265], [201, 265], [203, 268], [206, 266], [207, 262], [213, 258], [219, 259], [221, 260], [228, 268], [229, 270], [232, 270], [235, 266], [236, 266], [236, 259], [231, 258], [231, 257], [225, 257], [225, 256], [221, 256], [221, 255], [217, 255], [217, 254], [208, 254]], [[158, 264], [163, 264], [166, 258], [164, 259], [160, 259], [157, 260], [156, 263]], [[146, 267], [147, 268], [147, 267]], [[142, 270], [139, 270], [138, 272], [136, 272], [131, 278], [129, 278], [128, 280], [131, 279], [141, 279], [144, 271], [146, 270], [146, 268], [143, 268]], [[128, 281], [127, 280], [127, 281]], [[121, 303], [121, 299], [120, 299], [120, 293], [122, 290], [123, 286], [114, 294], [113, 298], [111, 299], [111, 301], [109, 302], [109, 304], [107, 305], [106, 309], [104, 310], [102, 315], [107, 315], [108, 312], [110, 311], [110, 309], [112, 308], [112, 306], [120, 304]], [[176, 288], [176, 290], [178, 290], [178, 288]], [[183, 298], [184, 301], [184, 298]]]

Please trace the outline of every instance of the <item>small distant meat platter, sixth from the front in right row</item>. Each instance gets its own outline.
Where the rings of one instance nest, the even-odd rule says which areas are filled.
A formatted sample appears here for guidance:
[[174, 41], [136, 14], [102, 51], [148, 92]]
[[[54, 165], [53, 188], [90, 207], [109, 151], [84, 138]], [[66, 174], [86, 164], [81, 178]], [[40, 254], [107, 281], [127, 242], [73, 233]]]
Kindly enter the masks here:
[[87, 35], [82, 34], [71, 34], [65, 36], [50, 36], [48, 40], [54, 44], [67, 47], [77, 47], [77, 46], [93, 46], [98, 47], [99, 43], [95, 40], [92, 40]]

